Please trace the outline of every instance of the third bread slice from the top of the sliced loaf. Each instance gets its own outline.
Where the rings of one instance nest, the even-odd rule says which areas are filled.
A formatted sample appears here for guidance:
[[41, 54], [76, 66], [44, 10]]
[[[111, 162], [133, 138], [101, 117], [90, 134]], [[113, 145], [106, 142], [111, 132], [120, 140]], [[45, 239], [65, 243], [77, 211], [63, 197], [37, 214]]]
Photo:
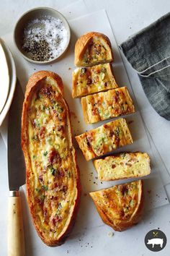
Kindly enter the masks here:
[[86, 124], [135, 112], [133, 101], [126, 87], [87, 95], [81, 98], [81, 105]]

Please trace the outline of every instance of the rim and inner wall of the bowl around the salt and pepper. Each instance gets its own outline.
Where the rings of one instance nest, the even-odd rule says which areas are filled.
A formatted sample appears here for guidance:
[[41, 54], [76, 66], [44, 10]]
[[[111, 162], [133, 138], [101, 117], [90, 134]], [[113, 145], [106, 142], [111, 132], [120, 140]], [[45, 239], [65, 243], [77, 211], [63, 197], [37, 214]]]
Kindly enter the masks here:
[[[31, 22], [32, 20], [35, 20], [35, 19], [42, 18], [44, 16], [50, 16], [50, 17], [54, 17], [54, 18], [62, 20], [63, 25], [67, 30], [68, 38], [67, 38], [67, 43], [66, 43], [65, 48], [63, 49], [63, 51], [61, 51], [61, 54], [59, 54], [57, 57], [55, 57], [54, 59], [50, 59], [48, 61], [35, 61], [33, 59], [30, 59], [30, 56], [28, 56], [27, 52], [25, 52], [24, 49], [22, 48], [23, 33], [24, 33], [24, 28], [27, 26], [27, 24], [29, 22]], [[61, 56], [66, 52], [66, 50], [68, 48], [70, 39], [71, 39], [71, 30], [70, 30], [70, 27], [68, 25], [66, 18], [63, 17], [63, 15], [60, 12], [56, 11], [55, 9], [49, 8], [49, 7], [38, 7], [35, 9], [31, 9], [28, 12], [25, 12], [22, 15], [22, 17], [19, 18], [19, 20], [17, 21], [17, 24], [14, 27], [14, 43], [16, 44], [16, 46], [19, 50], [19, 53], [22, 54], [24, 59], [27, 59], [27, 61], [30, 61], [34, 64], [49, 64], [49, 63], [52, 63], [53, 61], [56, 61], [59, 58], [61, 58]]]

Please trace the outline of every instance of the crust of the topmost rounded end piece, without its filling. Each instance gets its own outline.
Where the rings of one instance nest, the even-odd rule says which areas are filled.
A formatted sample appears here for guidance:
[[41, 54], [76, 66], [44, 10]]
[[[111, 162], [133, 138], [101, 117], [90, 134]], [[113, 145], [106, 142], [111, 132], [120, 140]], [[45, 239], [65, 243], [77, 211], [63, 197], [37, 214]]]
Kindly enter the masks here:
[[[96, 59], [95, 61], [88, 61], [88, 60], [84, 61], [85, 51], [88, 48], [89, 43], [91, 43], [91, 41], [94, 38], [97, 38], [101, 43], [104, 44], [104, 48], [107, 52], [107, 56], [103, 57], [100, 60]], [[110, 40], [109, 38], [107, 38], [106, 35], [102, 33], [89, 32], [84, 35], [81, 35], [81, 37], [76, 41], [74, 53], [75, 53], [74, 64], [76, 67], [89, 67], [89, 66], [108, 63], [113, 61], [112, 46], [111, 46]]]

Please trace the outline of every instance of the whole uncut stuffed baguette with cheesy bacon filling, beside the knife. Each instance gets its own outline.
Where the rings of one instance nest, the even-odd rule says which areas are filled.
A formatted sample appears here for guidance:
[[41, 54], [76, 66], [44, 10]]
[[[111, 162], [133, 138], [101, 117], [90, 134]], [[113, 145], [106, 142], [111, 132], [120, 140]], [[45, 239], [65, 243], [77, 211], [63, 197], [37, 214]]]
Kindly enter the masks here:
[[75, 221], [81, 187], [70, 114], [58, 74], [36, 72], [27, 83], [22, 150], [35, 229], [45, 244], [60, 245]]

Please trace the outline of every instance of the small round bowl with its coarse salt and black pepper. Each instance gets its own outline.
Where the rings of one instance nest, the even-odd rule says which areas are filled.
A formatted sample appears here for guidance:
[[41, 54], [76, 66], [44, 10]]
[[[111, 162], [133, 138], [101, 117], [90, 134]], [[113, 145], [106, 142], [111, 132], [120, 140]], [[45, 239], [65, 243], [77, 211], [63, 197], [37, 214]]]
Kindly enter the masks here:
[[71, 38], [68, 22], [60, 12], [48, 7], [31, 9], [14, 28], [14, 42], [24, 59], [48, 64], [67, 50]]

